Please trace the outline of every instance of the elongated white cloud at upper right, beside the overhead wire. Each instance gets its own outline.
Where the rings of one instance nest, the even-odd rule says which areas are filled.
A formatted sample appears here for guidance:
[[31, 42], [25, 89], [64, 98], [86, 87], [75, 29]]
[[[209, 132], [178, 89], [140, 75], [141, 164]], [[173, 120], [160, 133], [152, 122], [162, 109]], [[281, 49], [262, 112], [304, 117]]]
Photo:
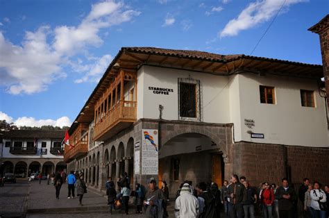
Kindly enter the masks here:
[[[286, 0], [282, 9], [287, 11], [289, 6], [305, 1], [307, 0]], [[230, 22], [226, 24], [223, 31], [219, 33], [219, 36], [227, 37], [238, 35], [240, 31], [247, 30], [257, 24], [269, 21], [276, 15], [278, 10], [280, 10], [283, 2], [284, 0], [262, 0], [250, 3], [244, 8], [244, 10], [242, 10], [237, 18], [231, 19]]]

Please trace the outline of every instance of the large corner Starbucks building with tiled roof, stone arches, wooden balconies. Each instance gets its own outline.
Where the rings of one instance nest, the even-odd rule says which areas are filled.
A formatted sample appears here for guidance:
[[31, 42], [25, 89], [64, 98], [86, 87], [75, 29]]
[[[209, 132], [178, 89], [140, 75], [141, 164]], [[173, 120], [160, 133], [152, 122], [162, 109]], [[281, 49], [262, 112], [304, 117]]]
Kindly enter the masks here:
[[321, 65], [124, 47], [71, 125], [65, 162], [100, 191], [124, 171], [171, 193], [233, 173], [253, 185], [329, 183], [321, 78]]

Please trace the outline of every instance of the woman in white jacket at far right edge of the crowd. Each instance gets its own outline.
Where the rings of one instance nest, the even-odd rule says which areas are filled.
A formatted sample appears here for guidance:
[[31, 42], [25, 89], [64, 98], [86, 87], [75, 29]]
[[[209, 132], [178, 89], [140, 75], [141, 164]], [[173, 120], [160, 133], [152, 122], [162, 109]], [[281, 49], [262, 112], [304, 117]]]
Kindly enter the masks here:
[[314, 218], [326, 218], [326, 210], [321, 210], [319, 202], [327, 202], [326, 193], [320, 189], [319, 182], [314, 182], [314, 189], [310, 193], [311, 195], [311, 212]]

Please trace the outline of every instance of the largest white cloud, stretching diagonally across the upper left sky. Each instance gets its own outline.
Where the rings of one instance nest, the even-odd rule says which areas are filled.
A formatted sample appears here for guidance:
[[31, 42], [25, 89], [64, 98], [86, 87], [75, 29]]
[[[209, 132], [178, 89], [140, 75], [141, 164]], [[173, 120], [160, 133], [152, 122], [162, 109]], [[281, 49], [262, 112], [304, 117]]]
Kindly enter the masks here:
[[[19, 44], [6, 40], [0, 32], [0, 85], [7, 87], [10, 94], [47, 90], [53, 81], [67, 76], [62, 68], [75, 55], [86, 55], [88, 47], [103, 43], [103, 34], [99, 33], [102, 29], [129, 22], [138, 15], [140, 12], [128, 9], [124, 3], [108, 0], [92, 5], [90, 13], [78, 26], [57, 26], [55, 29], [40, 26], [35, 32], [27, 31]], [[7, 17], [3, 20], [10, 22]], [[96, 67], [94, 71], [90, 68], [87, 78], [93, 78], [93, 72]]]

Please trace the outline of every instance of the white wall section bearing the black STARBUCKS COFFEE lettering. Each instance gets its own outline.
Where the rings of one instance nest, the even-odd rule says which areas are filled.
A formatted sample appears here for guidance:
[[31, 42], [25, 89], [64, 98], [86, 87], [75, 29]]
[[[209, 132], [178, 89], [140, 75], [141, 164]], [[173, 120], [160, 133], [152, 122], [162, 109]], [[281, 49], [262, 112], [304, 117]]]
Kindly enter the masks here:
[[[160, 67], [144, 66], [138, 72], [138, 106], [137, 119], [159, 118], [159, 105], [162, 110], [162, 119], [178, 119], [178, 78], [189, 78], [200, 80], [203, 96], [203, 117], [201, 121], [210, 123], [226, 124], [230, 122], [228, 106], [228, 78], [201, 74], [185, 70], [168, 69]], [[165, 94], [154, 94], [149, 87], [162, 87], [174, 90]], [[219, 93], [220, 92], [220, 93]]]

